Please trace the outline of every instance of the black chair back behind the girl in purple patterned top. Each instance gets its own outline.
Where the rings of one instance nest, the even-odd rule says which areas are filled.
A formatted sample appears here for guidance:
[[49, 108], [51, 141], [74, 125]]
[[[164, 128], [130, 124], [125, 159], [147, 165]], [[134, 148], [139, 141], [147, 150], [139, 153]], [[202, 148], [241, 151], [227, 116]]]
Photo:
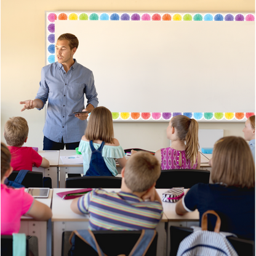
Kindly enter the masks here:
[[209, 179], [209, 170], [162, 170], [156, 182], [156, 188], [175, 188], [177, 186], [191, 188], [197, 183], [209, 183]]

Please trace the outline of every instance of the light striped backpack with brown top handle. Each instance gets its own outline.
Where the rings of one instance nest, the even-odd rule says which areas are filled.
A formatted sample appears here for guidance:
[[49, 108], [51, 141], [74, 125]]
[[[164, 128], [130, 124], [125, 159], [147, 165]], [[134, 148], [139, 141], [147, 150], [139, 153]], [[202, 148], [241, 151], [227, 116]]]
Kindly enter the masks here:
[[[207, 231], [207, 214], [217, 217], [214, 231]], [[236, 250], [230, 244], [227, 236], [235, 234], [220, 232], [220, 217], [214, 210], [207, 210], [202, 215], [201, 226], [193, 227], [192, 234], [182, 240], [178, 247], [177, 256], [238, 256]]]

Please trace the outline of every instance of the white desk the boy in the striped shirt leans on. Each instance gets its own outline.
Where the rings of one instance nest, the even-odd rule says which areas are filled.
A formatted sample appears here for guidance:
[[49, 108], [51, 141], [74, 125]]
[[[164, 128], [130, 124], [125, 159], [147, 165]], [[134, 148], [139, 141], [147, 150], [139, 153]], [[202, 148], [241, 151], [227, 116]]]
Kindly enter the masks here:
[[[62, 233], [64, 231], [87, 229], [89, 226], [89, 216], [79, 215], [72, 212], [70, 204], [72, 200], [63, 200], [57, 195], [59, 192], [76, 190], [76, 188], [54, 188], [52, 198], [52, 225], [54, 235], [54, 256], [62, 254]], [[119, 189], [106, 189], [106, 191], [119, 191]], [[166, 231], [165, 223], [167, 217], [164, 214], [156, 230], [158, 231], [158, 256], [166, 254]]]

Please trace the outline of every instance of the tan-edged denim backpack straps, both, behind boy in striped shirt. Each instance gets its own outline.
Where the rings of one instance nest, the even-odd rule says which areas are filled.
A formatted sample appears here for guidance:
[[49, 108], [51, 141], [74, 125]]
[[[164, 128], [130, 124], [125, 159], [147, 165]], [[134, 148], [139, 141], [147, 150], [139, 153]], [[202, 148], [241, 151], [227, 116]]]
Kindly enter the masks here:
[[[68, 252], [68, 255], [75, 256], [75, 236], [78, 236], [82, 241], [86, 242], [86, 244], [89, 244], [97, 253], [98, 256], [107, 256], [104, 254], [100, 246], [98, 245], [97, 240], [95, 239], [94, 233], [92, 233], [91, 230], [74, 230], [70, 235], [70, 244], [72, 244], [72, 247], [70, 251]], [[142, 230], [142, 234], [140, 235], [140, 238], [138, 238], [138, 241], [136, 242], [135, 246], [130, 251], [130, 254], [128, 256], [144, 256], [150, 247], [151, 243], [154, 240], [154, 237], [156, 236], [156, 230]], [[119, 254], [117, 256], [126, 256], [124, 254]]]

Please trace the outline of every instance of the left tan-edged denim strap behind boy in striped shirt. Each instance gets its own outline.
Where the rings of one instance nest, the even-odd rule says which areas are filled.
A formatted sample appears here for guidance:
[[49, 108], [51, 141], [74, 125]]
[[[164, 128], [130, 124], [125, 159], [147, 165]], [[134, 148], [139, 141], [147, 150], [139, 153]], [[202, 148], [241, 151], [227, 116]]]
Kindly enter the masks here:
[[97, 240], [95, 239], [94, 233], [92, 233], [91, 230], [74, 230], [70, 235], [70, 244], [72, 244], [72, 237], [76, 234], [82, 241], [86, 242], [86, 244], [89, 244], [96, 252], [98, 252], [98, 256], [106, 256], [106, 254], [103, 253], [102, 249], [98, 245]]

